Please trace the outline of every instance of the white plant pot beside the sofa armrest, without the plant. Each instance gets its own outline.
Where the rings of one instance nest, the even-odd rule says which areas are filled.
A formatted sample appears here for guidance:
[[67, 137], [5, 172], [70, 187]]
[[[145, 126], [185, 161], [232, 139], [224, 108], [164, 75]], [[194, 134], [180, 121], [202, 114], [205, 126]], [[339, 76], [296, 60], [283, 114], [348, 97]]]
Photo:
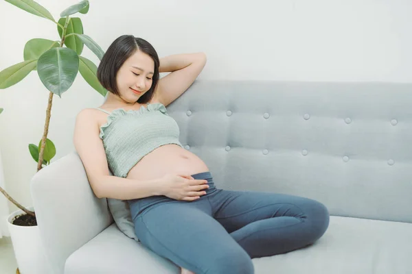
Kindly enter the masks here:
[[[33, 208], [27, 208], [33, 210]], [[23, 210], [17, 210], [8, 216], [8, 229], [12, 239], [14, 256], [21, 274], [51, 274], [45, 256], [38, 226], [23, 227], [13, 225], [12, 221]]]

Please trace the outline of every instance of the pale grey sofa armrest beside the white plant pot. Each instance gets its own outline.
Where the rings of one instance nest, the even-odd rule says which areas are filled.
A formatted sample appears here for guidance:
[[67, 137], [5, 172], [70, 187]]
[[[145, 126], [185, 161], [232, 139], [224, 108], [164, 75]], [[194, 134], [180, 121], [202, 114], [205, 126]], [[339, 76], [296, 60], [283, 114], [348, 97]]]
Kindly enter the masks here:
[[95, 197], [76, 152], [38, 171], [30, 189], [46, 256], [63, 273], [71, 253], [113, 223], [107, 200]]

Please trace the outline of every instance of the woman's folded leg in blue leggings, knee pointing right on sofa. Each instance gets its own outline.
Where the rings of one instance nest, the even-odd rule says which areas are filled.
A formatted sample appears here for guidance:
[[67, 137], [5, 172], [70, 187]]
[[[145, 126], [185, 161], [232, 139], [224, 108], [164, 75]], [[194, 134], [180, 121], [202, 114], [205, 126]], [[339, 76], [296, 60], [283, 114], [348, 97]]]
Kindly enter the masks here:
[[251, 258], [310, 245], [329, 225], [328, 209], [304, 197], [222, 190], [208, 198], [214, 218]]

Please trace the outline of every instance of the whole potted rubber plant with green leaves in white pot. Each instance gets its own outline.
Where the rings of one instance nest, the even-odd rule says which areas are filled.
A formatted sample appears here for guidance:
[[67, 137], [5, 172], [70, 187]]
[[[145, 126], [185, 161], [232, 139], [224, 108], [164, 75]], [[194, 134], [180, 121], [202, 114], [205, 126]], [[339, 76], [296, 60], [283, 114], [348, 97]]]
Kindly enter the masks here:
[[[96, 77], [97, 66], [91, 60], [80, 55], [84, 45], [91, 49], [100, 60], [102, 60], [104, 51], [93, 39], [83, 33], [81, 19], [71, 17], [72, 14], [78, 12], [87, 14], [89, 1], [81, 1], [63, 10], [58, 21], [54, 20], [48, 10], [33, 0], [5, 1], [26, 12], [52, 21], [56, 24], [60, 36], [60, 40], [56, 41], [43, 38], [34, 38], [27, 41], [23, 51], [24, 61], [0, 71], [1, 89], [17, 84], [31, 71], [37, 71], [41, 82], [49, 90], [43, 136], [38, 145], [29, 145], [30, 154], [38, 163], [37, 171], [40, 171], [44, 166], [50, 164], [50, 161], [56, 155], [54, 143], [47, 138], [54, 95], [61, 98], [62, 93], [67, 91], [73, 84], [78, 72], [92, 88], [101, 95], [106, 95], [107, 90], [102, 87]], [[21, 206], [1, 187], [0, 192], [19, 208], [8, 217], [8, 228], [20, 271], [30, 274], [50, 273], [38, 234], [34, 209]], [[19, 269], [17, 269], [17, 272], [19, 272]]]

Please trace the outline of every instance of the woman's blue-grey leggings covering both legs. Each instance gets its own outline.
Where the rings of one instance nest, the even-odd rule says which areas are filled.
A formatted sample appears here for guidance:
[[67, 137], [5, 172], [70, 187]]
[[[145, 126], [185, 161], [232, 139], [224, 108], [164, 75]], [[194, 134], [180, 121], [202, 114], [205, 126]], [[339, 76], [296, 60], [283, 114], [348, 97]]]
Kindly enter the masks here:
[[325, 233], [322, 203], [271, 192], [229, 191], [214, 186], [196, 201], [165, 196], [129, 200], [135, 233], [148, 249], [196, 274], [254, 273], [252, 258], [287, 253]]

